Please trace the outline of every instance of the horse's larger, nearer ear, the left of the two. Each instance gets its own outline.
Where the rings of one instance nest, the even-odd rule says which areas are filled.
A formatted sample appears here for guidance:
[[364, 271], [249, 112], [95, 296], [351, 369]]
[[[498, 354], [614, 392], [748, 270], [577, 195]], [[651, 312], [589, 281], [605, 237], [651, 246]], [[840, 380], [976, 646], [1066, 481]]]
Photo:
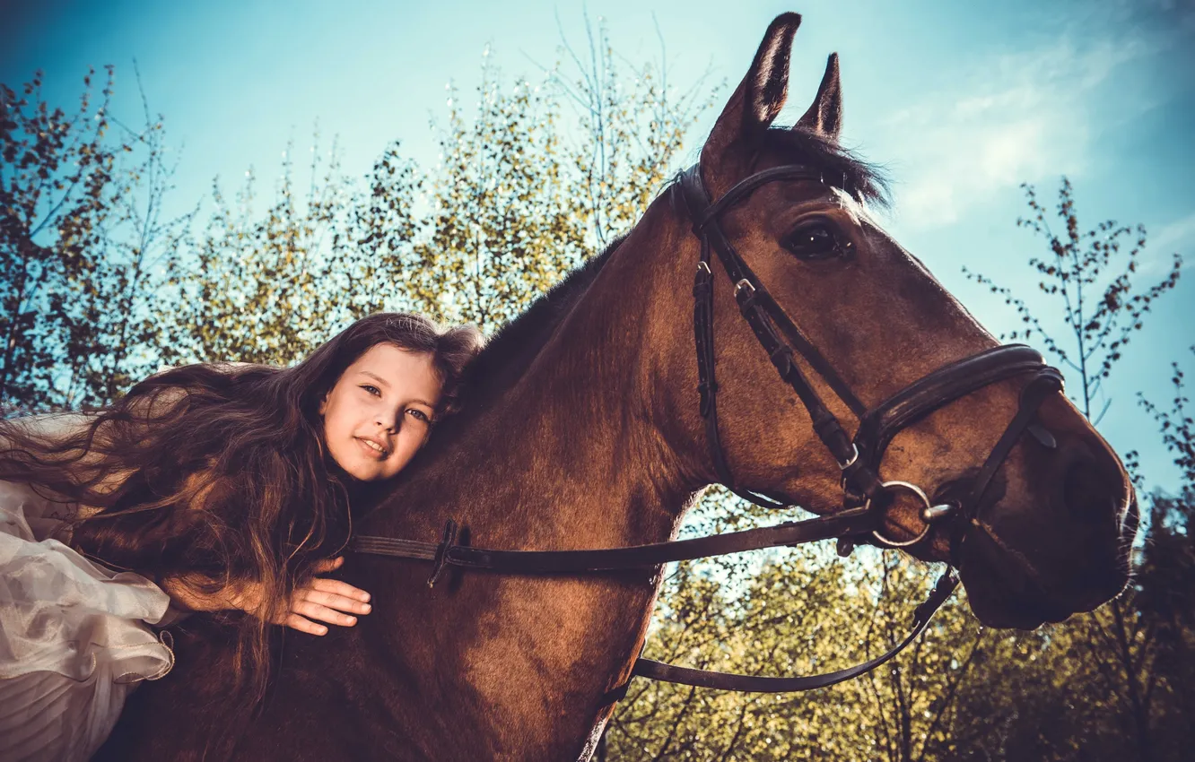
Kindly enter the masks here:
[[717, 165], [728, 147], [766, 130], [780, 113], [789, 92], [792, 36], [798, 26], [798, 13], [782, 13], [768, 25], [747, 76], [730, 96], [701, 148], [703, 165]]

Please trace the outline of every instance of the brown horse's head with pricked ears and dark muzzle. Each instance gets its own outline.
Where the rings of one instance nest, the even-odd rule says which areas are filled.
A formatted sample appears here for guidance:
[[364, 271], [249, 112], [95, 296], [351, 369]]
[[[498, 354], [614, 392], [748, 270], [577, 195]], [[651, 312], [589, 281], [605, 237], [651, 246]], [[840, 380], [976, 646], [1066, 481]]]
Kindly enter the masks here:
[[[785, 14], [772, 23], [701, 149], [700, 179], [715, 204], [705, 213], [716, 219], [703, 233], [716, 235], [721, 227], [774, 303], [816, 348], [823, 368], [799, 355], [797, 364], [851, 434], [865, 411], [998, 342], [869, 217], [864, 204], [881, 191], [875, 174], [839, 147], [842, 102], [835, 56], [797, 124], [772, 127], [784, 105], [799, 21]], [[807, 172], [770, 174], [718, 204], [744, 179], [793, 165]], [[693, 185], [686, 190], [682, 182], [674, 191], [684, 229], [678, 234], [692, 252], [688, 262], [697, 264], [698, 238], [690, 233]], [[836, 461], [844, 457], [832, 455], [815, 435], [808, 400], [778, 377], [740, 317], [742, 299], [736, 303], [735, 284], [719, 258], [721, 252], [711, 257], [710, 268], [723, 471], [740, 488], [785, 496], [820, 514], [841, 510], [842, 463]], [[795, 344], [774, 315], [770, 322], [777, 336]], [[685, 362], [692, 381], [692, 355]], [[880, 480], [918, 485], [931, 504], [956, 506], [952, 515], [926, 524], [915, 491], [888, 490], [881, 534], [894, 541], [921, 535], [906, 549], [923, 559], [955, 560], [980, 620], [1031, 628], [1092, 609], [1123, 588], [1136, 506], [1124, 468], [1087, 419], [1056, 386], [1036, 385], [1027, 393], [1036, 369], [1010, 370], [1010, 362], [1016, 361], [979, 363], [954, 374], [939, 385], [954, 391], [950, 399], [907, 419], [888, 408], [885, 416], [897, 419], [894, 436], [887, 447], [885, 437], [874, 442], [875, 451], [864, 456]], [[985, 373], [993, 373], [987, 382], [969, 383]], [[1027, 395], [1038, 399], [1024, 402]], [[706, 429], [692, 392], [685, 405], [688, 435], [697, 432], [701, 442]], [[1011, 434], [1004, 436], [1006, 431]], [[1001, 438], [1007, 440], [1003, 450]], [[716, 479], [716, 457], [704, 443], [699, 447], [710, 463], [703, 475]], [[986, 463], [991, 473], [976, 493]]]

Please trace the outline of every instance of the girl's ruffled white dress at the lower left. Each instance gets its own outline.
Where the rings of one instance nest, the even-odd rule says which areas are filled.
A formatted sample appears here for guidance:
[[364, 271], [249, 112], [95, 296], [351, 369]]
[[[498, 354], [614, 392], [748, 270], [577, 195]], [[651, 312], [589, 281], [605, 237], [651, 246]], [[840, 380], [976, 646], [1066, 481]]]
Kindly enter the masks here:
[[88, 760], [125, 696], [174, 664], [168, 637], [148, 627], [164, 623], [168, 596], [54, 539], [65, 508], [0, 481], [2, 762]]

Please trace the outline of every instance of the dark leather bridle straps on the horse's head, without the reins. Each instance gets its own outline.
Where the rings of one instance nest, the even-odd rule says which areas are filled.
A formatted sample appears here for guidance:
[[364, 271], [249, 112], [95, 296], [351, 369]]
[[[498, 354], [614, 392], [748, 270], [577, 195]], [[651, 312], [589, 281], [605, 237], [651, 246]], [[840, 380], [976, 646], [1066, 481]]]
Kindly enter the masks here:
[[[1046, 397], [1061, 391], [1062, 374], [1055, 368], [1046, 365], [1042, 356], [1030, 346], [1023, 344], [994, 346], [938, 368], [875, 407], [866, 408], [850, 386], [838, 375], [834, 367], [826, 361], [796, 322], [772, 299], [759, 277], [735, 251], [734, 245], [718, 223], [718, 219], [730, 207], [744, 201], [760, 186], [777, 180], [816, 180], [821, 183], [822, 178], [819, 172], [799, 165], [773, 167], [741, 180], [716, 203], [710, 203], [705, 184], [701, 182], [700, 165], [690, 167], [681, 174], [679, 183], [685, 205], [693, 221], [693, 233], [701, 240], [701, 258], [698, 262], [697, 278], [693, 283], [693, 334], [697, 342], [700, 412], [705, 419], [710, 456], [718, 480], [735, 494], [752, 503], [767, 508], [785, 508], [783, 502], [774, 498], [739, 490], [722, 451], [718, 436], [718, 385], [713, 370], [711, 248], [717, 252], [727, 276], [735, 284], [735, 301], [739, 303], [740, 314], [755, 333], [755, 338], [767, 352], [768, 360], [772, 361], [780, 379], [797, 393], [809, 412], [814, 432], [841, 469], [844, 508], [862, 505], [882, 509], [885, 493], [890, 494], [895, 490], [914, 494], [923, 504], [920, 517], [925, 528], [912, 540], [905, 541], [888, 540], [880, 534], [878, 528], [874, 529], [875, 539], [890, 547], [903, 547], [920, 541], [929, 534], [933, 523], [955, 514], [962, 514], [967, 521], [975, 520], [992, 477], [995, 475], [997, 469], [1009, 456], [1010, 450], [1025, 429], [1029, 429], [1043, 445], [1048, 448], [1055, 445], [1050, 434], [1041, 425], [1034, 424], [1032, 417]], [[777, 326], [780, 328], [779, 332]], [[796, 362], [795, 354], [799, 354], [829, 386], [835, 397], [859, 418], [859, 426], [853, 440], [822, 401], [817, 391], [809, 383], [804, 371]], [[1005, 429], [1004, 436], [992, 449], [961, 503], [932, 505], [925, 491], [917, 485], [880, 479], [878, 467], [884, 450], [902, 429], [972, 392], [1025, 373], [1034, 375], [1022, 391], [1019, 410]]]

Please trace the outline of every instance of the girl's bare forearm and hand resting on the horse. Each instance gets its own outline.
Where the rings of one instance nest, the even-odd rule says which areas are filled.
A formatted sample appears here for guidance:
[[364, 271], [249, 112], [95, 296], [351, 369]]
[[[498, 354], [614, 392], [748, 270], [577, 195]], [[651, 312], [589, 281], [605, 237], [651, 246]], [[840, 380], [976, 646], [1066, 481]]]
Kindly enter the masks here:
[[[343, 563], [343, 555], [321, 561], [315, 566], [315, 572], [333, 571], [339, 569]], [[200, 591], [194, 582], [188, 582], [186, 577], [167, 577], [161, 579], [159, 584], [177, 607], [191, 612], [239, 609], [262, 619], [269, 612], [265, 591], [261, 583], [235, 583], [216, 592]], [[314, 577], [306, 585], [296, 589], [292, 594], [286, 610], [278, 613], [270, 621], [312, 635], [323, 635], [327, 633], [327, 627], [313, 620], [351, 627], [357, 622], [353, 614], [368, 614], [370, 612], [367, 601], [369, 601], [369, 594], [364, 590], [338, 579]]]

